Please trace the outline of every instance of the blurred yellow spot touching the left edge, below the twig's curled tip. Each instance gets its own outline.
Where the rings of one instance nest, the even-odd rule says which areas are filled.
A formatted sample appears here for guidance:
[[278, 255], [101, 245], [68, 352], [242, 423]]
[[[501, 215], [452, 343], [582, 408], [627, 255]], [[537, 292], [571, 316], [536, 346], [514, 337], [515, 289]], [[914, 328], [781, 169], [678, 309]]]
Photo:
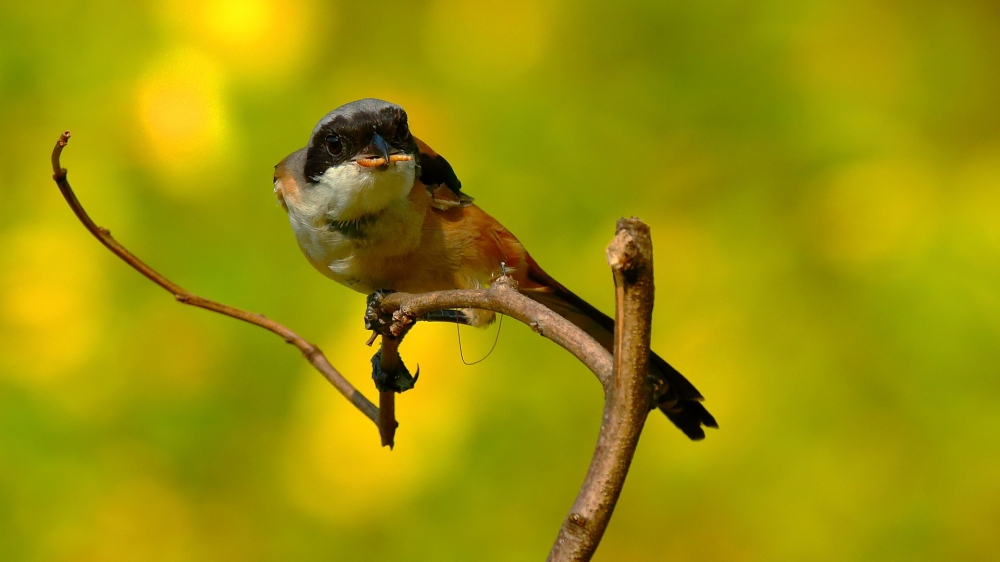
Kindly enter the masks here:
[[66, 380], [99, 337], [96, 245], [74, 233], [33, 225], [2, 240], [0, 370], [39, 390]]

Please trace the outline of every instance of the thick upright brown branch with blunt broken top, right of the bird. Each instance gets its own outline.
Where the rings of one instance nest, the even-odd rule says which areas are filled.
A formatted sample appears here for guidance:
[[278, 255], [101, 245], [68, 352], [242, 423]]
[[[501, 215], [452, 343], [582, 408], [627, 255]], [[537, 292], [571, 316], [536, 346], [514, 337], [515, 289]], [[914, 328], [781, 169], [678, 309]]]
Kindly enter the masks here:
[[653, 315], [649, 227], [638, 219], [618, 221], [618, 233], [607, 254], [615, 277], [614, 385], [604, 402], [594, 458], [549, 553], [551, 562], [586, 561], [594, 555], [649, 414], [651, 390], [646, 373]]

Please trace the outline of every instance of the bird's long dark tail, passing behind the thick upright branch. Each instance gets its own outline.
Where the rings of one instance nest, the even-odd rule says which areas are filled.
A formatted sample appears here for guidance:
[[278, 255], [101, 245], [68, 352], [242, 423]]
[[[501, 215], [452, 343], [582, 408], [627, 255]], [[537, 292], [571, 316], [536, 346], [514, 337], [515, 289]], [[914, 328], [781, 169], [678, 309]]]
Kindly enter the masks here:
[[[576, 324], [605, 349], [612, 351], [615, 321], [563, 287], [545, 273], [531, 256], [525, 255], [525, 261], [527, 271], [518, 275], [527, 281], [521, 282], [521, 292]], [[677, 369], [659, 355], [650, 353], [649, 370], [657, 380], [665, 383], [658, 390], [658, 407], [685, 435], [694, 440], [704, 439], [702, 426], [719, 427], [712, 414], [701, 404], [701, 393]]]

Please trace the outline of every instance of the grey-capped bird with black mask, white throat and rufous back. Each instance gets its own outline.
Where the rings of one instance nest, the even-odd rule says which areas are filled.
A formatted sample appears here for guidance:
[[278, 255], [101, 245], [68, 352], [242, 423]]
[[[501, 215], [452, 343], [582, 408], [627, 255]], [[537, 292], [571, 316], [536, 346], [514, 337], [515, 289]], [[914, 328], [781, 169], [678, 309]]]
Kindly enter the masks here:
[[[364, 294], [489, 286], [518, 290], [612, 350], [614, 320], [545, 272], [521, 242], [462, 191], [451, 164], [410, 132], [399, 105], [366, 98], [327, 113], [309, 143], [275, 166], [274, 193], [299, 248], [323, 275]], [[484, 327], [494, 314], [453, 311]], [[717, 428], [702, 395], [655, 353], [657, 407], [692, 440]]]

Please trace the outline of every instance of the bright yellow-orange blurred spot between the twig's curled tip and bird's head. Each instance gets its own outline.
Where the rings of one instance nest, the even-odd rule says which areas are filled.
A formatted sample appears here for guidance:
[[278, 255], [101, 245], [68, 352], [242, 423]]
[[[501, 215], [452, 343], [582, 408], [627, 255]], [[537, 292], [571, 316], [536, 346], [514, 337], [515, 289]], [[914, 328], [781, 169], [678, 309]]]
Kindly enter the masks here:
[[[222, 76], [204, 55], [177, 51], [154, 65], [139, 84], [137, 105], [145, 143], [140, 154], [163, 171], [194, 176], [220, 156], [226, 130]], [[201, 192], [213, 183], [170, 187]]]

